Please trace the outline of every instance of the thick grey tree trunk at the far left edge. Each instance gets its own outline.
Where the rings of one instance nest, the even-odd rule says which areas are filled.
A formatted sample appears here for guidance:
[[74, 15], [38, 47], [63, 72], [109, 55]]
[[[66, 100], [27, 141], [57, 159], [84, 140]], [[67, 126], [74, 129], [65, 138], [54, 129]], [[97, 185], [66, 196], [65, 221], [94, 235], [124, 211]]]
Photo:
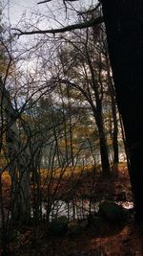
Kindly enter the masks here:
[[29, 221], [30, 207], [30, 154], [20, 140], [17, 130], [17, 112], [11, 105], [9, 91], [0, 81], [0, 98], [5, 111], [6, 143], [11, 177], [11, 221]]

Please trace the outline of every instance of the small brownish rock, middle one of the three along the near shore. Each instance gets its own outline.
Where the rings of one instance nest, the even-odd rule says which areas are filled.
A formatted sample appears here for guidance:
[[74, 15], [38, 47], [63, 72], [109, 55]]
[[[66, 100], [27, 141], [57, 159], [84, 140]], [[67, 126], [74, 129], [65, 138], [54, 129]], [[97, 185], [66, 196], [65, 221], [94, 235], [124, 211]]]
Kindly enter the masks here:
[[68, 224], [68, 234], [72, 238], [76, 238], [82, 232], [83, 228], [80, 226], [80, 223], [77, 221], [72, 221]]

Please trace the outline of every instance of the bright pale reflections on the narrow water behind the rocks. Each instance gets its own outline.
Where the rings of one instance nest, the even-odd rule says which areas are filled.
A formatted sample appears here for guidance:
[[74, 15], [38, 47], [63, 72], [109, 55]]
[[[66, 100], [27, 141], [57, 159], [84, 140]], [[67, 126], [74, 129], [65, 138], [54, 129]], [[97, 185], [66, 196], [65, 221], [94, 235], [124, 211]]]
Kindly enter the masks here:
[[[68, 219], [86, 219], [90, 213], [96, 213], [99, 209], [98, 202], [91, 202], [89, 199], [74, 199], [69, 202], [63, 200], [54, 201], [51, 205], [50, 220], [55, 216], [67, 216]], [[121, 205], [125, 209], [133, 209], [133, 201], [120, 201], [117, 204]], [[42, 214], [47, 215], [47, 203], [42, 203]]]

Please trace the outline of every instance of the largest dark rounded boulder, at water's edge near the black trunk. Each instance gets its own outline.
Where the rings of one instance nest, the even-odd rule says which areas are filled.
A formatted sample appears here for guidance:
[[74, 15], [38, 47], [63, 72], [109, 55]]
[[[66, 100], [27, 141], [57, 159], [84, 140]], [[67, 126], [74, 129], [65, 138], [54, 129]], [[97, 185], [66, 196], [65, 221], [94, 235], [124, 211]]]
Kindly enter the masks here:
[[127, 219], [124, 208], [112, 201], [104, 201], [99, 204], [98, 214], [110, 223], [122, 223]]

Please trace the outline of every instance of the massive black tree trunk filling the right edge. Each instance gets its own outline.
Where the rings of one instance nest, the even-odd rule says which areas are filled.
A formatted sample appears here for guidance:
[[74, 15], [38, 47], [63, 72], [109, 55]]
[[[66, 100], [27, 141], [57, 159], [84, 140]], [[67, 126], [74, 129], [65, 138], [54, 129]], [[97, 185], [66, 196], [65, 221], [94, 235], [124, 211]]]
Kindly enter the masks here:
[[143, 1], [102, 0], [117, 103], [130, 155], [136, 221], [143, 221]]

